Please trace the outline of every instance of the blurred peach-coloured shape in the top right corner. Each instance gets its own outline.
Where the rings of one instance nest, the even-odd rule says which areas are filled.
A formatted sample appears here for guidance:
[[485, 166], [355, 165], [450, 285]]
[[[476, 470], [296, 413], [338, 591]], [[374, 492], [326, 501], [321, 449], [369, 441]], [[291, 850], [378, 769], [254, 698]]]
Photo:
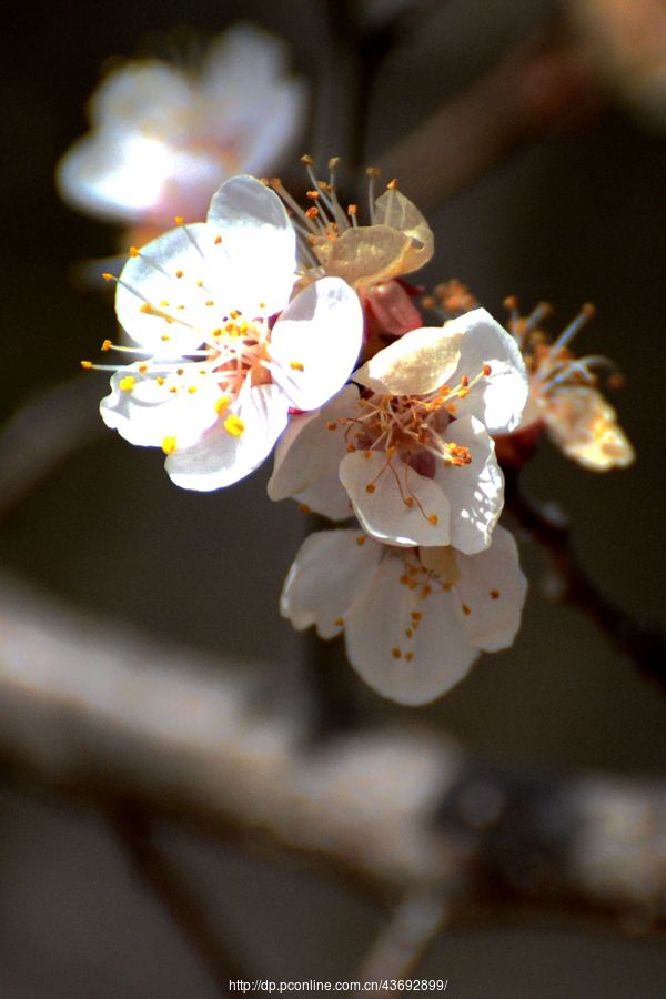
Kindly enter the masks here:
[[568, 0], [594, 64], [637, 117], [666, 125], [664, 0]]

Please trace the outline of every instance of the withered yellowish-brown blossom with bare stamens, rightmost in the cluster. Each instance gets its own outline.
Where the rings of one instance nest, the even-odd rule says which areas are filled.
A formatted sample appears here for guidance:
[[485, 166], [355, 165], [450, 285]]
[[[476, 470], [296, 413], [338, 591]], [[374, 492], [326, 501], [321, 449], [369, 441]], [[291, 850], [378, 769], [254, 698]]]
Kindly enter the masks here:
[[513, 440], [497, 440], [501, 460], [521, 464], [545, 426], [556, 446], [584, 468], [608, 472], [630, 465], [634, 448], [617, 423], [615, 410], [595, 387], [598, 376], [594, 369], [610, 362], [601, 355], [575, 357], [569, 349], [594, 309], [585, 305], [551, 343], [541, 329], [547, 305], [538, 305], [529, 316], [519, 315], [515, 300], [509, 299], [508, 305], [508, 329], [529, 373], [529, 401]]

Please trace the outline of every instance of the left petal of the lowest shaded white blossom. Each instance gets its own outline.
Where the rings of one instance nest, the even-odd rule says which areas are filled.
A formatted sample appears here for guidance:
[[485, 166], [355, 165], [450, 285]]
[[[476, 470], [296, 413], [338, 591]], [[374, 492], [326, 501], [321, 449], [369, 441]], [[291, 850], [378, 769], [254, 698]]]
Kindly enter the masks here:
[[380, 545], [360, 531], [311, 534], [289, 571], [280, 598], [283, 617], [299, 630], [316, 625], [322, 638], [339, 635], [381, 557]]

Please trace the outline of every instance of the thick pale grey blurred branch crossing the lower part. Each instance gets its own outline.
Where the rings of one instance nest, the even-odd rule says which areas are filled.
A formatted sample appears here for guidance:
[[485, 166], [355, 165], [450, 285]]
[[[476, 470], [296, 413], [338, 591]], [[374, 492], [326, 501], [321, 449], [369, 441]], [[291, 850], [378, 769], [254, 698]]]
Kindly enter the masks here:
[[[422, 727], [310, 739], [274, 675], [112, 630], [0, 581], [0, 760], [14, 778], [271, 841], [384, 897], [666, 924], [666, 784], [488, 767]], [[275, 692], [275, 693], [266, 693]], [[270, 697], [270, 699], [266, 699]]]

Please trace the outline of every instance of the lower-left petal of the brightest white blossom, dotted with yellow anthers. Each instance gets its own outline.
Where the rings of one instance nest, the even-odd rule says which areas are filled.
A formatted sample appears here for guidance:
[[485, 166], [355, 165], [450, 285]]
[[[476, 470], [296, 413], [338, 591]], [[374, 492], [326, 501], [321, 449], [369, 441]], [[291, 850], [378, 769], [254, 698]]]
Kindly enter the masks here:
[[[111, 394], [100, 403], [107, 426], [117, 430], [130, 444], [161, 447], [165, 438], [175, 438], [179, 447], [194, 444], [218, 418], [218, 386], [198, 377], [198, 366], [186, 362], [181, 369], [183, 377], [171, 376], [162, 385], [157, 380], [168, 369], [161, 369], [155, 361], [144, 373], [139, 367], [139, 363], [122, 367], [112, 376]], [[170, 362], [169, 369], [172, 367]], [[133, 380], [132, 387], [122, 389], [128, 377]], [[171, 386], [178, 391], [170, 392]], [[189, 389], [195, 391], [191, 393]]]

